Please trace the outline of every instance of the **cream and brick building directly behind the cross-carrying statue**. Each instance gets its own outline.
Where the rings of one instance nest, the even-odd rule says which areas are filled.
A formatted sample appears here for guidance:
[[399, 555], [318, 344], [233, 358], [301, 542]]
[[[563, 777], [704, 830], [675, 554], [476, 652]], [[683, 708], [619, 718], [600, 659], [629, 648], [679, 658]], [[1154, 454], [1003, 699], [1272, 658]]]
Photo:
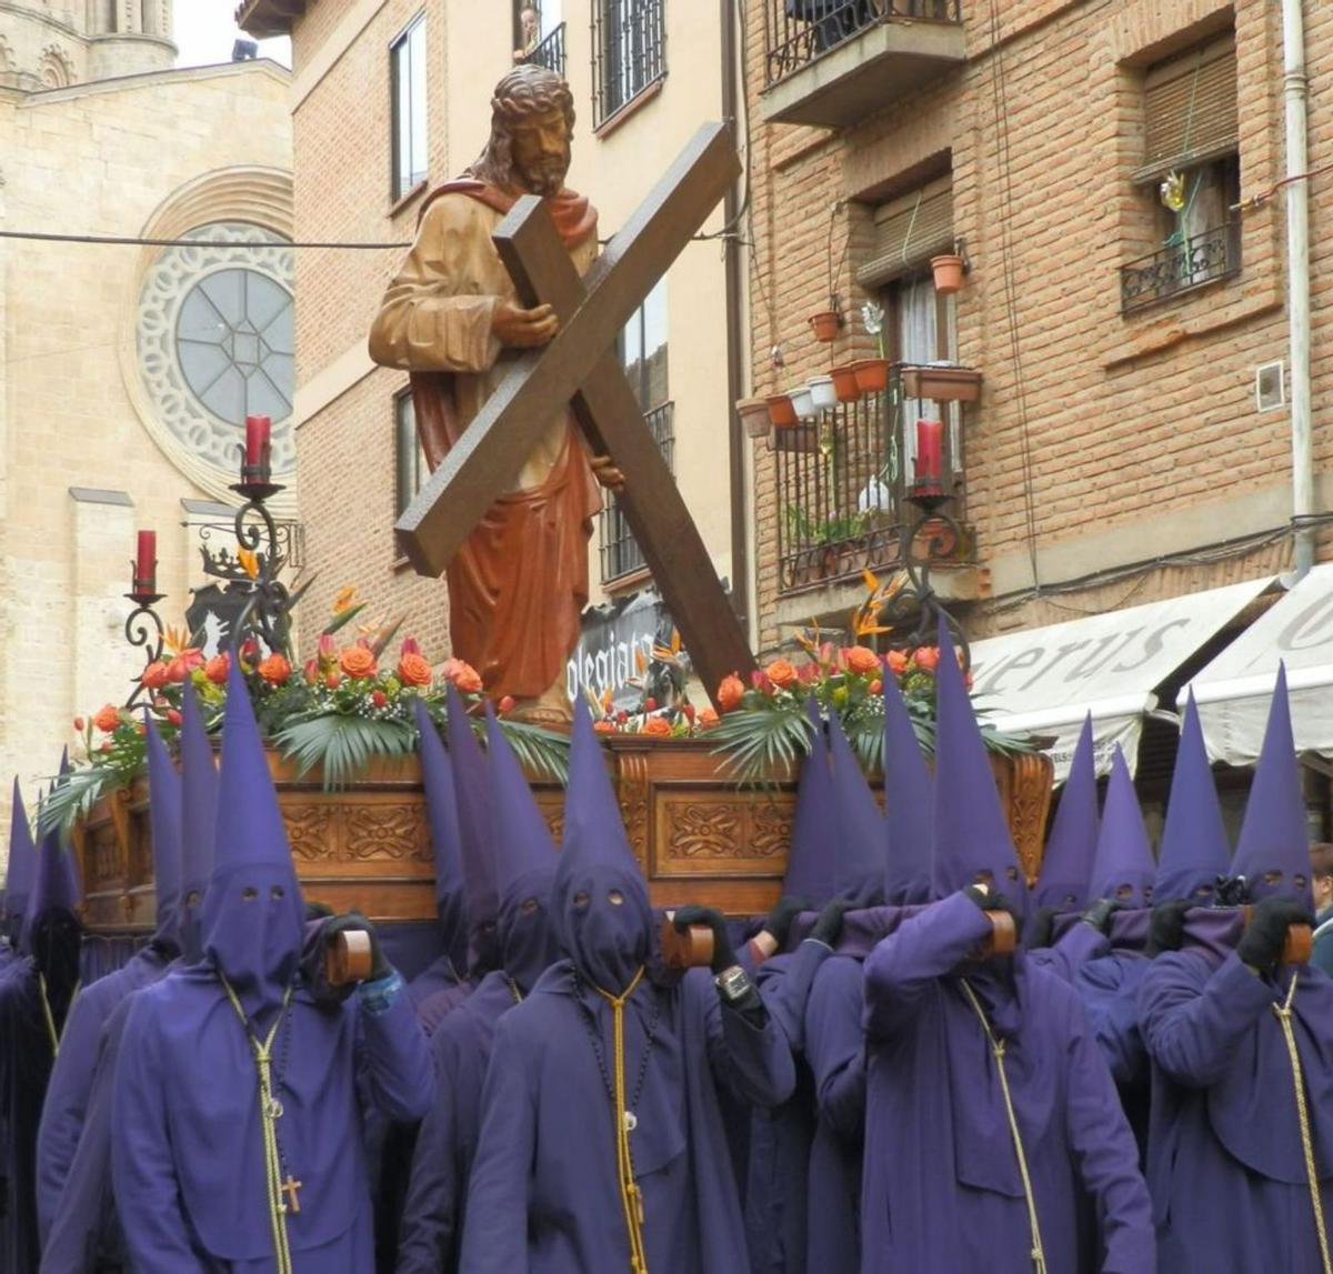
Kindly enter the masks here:
[[[697, 21], [700, 9], [708, 21]], [[237, 16], [252, 35], [292, 36], [299, 237], [400, 245], [425, 192], [480, 152], [489, 91], [524, 57], [567, 76], [577, 111], [569, 184], [597, 205], [603, 239], [615, 233], [700, 123], [730, 113], [724, 67], [736, 32], [717, 13], [665, 0], [251, 0]], [[705, 232], [726, 215], [720, 207]], [[440, 658], [444, 585], [416, 577], [393, 540], [424, 477], [407, 376], [375, 368], [367, 353], [403, 255], [329, 248], [297, 261], [301, 513], [319, 572], [303, 605], [319, 613], [355, 584], [376, 613], [409, 616]], [[718, 573], [744, 584], [746, 454], [730, 422], [745, 345], [728, 291], [738, 288], [737, 267], [728, 240], [690, 244], [627, 328], [621, 354]], [[589, 554], [593, 605], [619, 602], [639, 617], [588, 616], [571, 689], [600, 689], [617, 664], [632, 669], [629, 648], [660, 620], [656, 608], [631, 605], [649, 581], [613, 508]]]

